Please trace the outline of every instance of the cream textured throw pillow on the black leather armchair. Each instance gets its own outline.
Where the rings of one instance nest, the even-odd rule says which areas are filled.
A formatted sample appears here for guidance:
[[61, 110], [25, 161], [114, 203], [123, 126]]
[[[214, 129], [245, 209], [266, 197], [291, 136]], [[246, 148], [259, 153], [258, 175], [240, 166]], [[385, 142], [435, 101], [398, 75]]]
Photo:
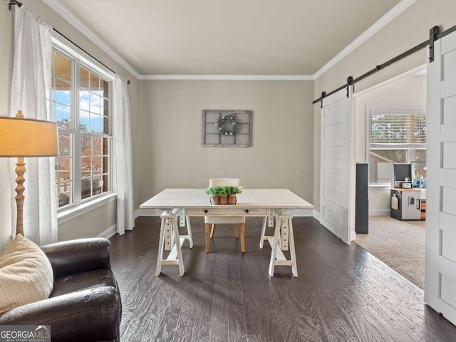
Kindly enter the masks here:
[[53, 281], [46, 254], [26, 237], [16, 235], [0, 256], [0, 313], [48, 298]]

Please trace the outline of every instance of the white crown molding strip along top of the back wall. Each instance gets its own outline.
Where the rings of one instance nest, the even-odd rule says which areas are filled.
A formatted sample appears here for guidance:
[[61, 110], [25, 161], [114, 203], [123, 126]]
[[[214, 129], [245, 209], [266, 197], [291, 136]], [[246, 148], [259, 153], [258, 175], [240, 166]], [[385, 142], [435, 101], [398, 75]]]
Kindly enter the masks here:
[[313, 81], [312, 75], [140, 75], [140, 80]]

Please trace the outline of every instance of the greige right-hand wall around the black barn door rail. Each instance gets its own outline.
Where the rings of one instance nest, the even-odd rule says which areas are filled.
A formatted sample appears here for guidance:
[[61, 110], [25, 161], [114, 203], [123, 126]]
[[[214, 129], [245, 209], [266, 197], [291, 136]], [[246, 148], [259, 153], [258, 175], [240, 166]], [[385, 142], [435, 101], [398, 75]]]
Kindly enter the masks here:
[[[348, 76], [354, 78], [370, 71], [375, 66], [388, 61], [409, 48], [429, 38], [429, 29], [439, 25], [445, 30], [456, 24], [455, 0], [418, 0], [388, 25], [356, 48], [348, 56], [336, 63], [315, 81], [314, 98], [346, 83]], [[380, 82], [398, 76], [405, 71], [426, 63], [426, 51], [414, 53], [402, 61], [388, 66], [373, 76], [356, 83], [355, 92], [369, 88]], [[314, 205], [320, 205], [320, 107], [314, 105]]]

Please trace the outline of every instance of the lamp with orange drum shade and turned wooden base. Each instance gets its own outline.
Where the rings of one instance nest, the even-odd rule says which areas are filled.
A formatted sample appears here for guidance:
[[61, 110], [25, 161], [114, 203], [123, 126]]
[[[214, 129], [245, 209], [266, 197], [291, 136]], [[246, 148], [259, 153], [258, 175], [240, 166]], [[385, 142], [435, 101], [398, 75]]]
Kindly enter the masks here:
[[21, 110], [16, 118], [0, 117], [0, 157], [18, 157], [16, 162], [16, 234], [24, 235], [24, 157], [58, 155], [57, 125], [50, 121], [26, 119]]

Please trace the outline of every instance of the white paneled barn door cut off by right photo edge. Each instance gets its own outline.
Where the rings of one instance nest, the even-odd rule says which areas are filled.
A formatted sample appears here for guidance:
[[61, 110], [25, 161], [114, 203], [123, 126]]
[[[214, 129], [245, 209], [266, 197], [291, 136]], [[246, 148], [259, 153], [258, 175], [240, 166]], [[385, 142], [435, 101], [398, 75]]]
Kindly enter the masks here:
[[456, 324], [456, 33], [427, 63], [425, 301]]

